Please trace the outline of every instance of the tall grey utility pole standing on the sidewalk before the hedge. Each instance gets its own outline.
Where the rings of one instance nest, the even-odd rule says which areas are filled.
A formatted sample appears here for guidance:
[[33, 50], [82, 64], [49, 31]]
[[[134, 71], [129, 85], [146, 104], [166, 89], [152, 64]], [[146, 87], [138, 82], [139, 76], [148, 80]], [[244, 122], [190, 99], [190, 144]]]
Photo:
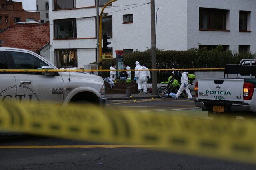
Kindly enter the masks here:
[[[151, 5], [151, 68], [156, 69], [156, 18], [155, 0], [150, 1]], [[152, 94], [157, 94], [157, 74], [152, 71]]]

